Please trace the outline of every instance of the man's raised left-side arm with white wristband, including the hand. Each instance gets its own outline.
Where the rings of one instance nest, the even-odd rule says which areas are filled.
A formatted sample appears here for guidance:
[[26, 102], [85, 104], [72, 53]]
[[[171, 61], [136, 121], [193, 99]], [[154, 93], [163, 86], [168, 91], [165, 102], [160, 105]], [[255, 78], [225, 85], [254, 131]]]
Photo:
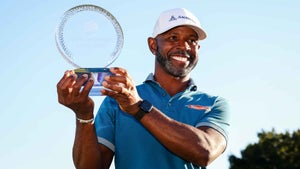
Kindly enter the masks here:
[[[73, 71], [67, 71], [57, 84], [58, 102], [72, 109], [76, 118], [94, 118], [94, 102], [88, 96], [94, 82], [90, 78], [81, 91], [82, 84], [88, 80], [84, 75], [77, 79]], [[97, 141], [93, 123], [76, 120], [76, 134], [73, 146], [73, 161], [78, 169], [108, 169], [113, 152]]]

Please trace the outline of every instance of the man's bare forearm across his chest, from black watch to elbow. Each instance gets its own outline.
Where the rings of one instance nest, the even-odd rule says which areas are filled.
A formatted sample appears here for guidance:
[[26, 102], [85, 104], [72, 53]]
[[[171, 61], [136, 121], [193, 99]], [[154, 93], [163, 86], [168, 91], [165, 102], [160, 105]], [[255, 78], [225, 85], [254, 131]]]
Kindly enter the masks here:
[[224, 136], [215, 129], [177, 122], [155, 108], [140, 122], [170, 151], [199, 166], [210, 164], [226, 147]]

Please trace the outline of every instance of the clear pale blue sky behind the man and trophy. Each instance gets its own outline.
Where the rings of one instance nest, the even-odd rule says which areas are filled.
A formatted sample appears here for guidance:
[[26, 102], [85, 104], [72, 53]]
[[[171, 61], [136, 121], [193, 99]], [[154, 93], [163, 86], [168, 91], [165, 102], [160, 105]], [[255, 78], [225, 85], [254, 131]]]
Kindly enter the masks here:
[[[199, 17], [208, 37], [192, 77], [200, 90], [227, 98], [232, 112], [228, 148], [210, 169], [228, 168], [228, 156], [239, 156], [262, 130], [299, 128], [298, 0], [4, 0], [0, 168], [74, 168], [75, 116], [56, 94], [56, 83], [72, 67], [56, 49], [54, 29], [66, 10], [85, 3], [118, 19], [125, 41], [112, 66], [128, 69], [136, 84], [154, 68], [146, 40], [159, 13], [185, 7]], [[93, 99], [97, 110], [103, 98]]]

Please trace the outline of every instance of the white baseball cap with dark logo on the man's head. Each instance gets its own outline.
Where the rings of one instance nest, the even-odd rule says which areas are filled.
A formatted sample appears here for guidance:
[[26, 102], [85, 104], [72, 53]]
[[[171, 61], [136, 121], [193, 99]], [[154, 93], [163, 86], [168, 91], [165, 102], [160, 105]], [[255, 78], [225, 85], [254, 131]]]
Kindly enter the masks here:
[[154, 26], [152, 36], [155, 38], [159, 34], [183, 25], [193, 28], [197, 32], [199, 40], [206, 38], [206, 33], [202, 29], [198, 18], [184, 8], [175, 8], [162, 12]]

